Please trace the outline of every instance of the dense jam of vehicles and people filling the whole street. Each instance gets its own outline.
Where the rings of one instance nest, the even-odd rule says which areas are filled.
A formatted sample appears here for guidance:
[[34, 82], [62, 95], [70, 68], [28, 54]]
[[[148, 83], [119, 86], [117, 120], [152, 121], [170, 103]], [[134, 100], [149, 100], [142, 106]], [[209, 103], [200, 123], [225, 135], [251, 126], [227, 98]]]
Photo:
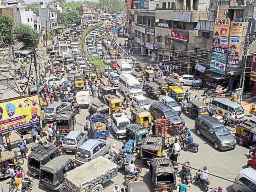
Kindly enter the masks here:
[[125, 20], [57, 35], [28, 95], [0, 104], [20, 135], [1, 144], [2, 192], [255, 192], [256, 112], [221, 84], [148, 64]]

